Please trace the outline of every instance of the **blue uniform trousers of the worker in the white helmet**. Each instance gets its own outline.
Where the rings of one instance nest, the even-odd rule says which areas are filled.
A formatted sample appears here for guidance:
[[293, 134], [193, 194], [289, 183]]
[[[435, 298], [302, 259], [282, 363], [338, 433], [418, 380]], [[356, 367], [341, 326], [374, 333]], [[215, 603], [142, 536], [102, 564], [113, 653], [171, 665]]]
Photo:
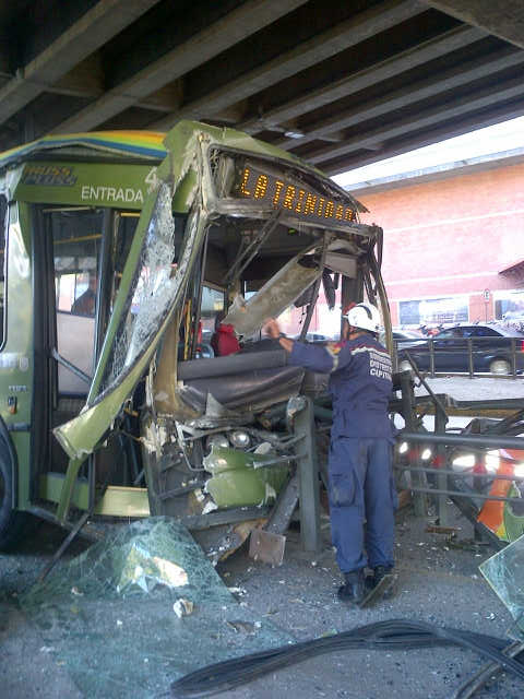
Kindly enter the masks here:
[[390, 441], [337, 437], [331, 443], [329, 469], [331, 532], [338, 568], [345, 573], [366, 566], [392, 567], [397, 498]]

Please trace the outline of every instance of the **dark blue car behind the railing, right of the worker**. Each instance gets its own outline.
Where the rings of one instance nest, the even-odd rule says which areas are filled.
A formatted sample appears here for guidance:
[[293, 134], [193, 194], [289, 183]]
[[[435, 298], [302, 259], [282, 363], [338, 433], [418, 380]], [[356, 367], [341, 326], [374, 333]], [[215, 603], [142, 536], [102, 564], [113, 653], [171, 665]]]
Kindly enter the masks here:
[[473, 370], [508, 375], [512, 372], [512, 343], [514, 343], [515, 368], [524, 369], [524, 333], [500, 323], [455, 324], [437, 333], [431, 339], [401, 342], [398, 368], [409, 369], [406, 351], [422, 371], [430, 370], [431, 345], [436, 372], [469, 371], [469, 351]]

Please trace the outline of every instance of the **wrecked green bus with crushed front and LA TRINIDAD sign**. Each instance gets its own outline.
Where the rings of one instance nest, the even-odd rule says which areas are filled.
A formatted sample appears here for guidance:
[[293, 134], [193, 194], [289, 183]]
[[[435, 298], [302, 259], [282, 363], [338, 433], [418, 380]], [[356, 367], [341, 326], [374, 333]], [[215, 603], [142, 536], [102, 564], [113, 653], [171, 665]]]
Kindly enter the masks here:
[[325, 389], [261, 328], [291, 308], [307, 339], [320, 296], [340, 327], [366, 295], [391, 330], [382, 230], [300, 159], [190, 121], [7, 152], [0, 206], [1, 547], [82, 512], [238, 546], [293, 472], [289, 400]]

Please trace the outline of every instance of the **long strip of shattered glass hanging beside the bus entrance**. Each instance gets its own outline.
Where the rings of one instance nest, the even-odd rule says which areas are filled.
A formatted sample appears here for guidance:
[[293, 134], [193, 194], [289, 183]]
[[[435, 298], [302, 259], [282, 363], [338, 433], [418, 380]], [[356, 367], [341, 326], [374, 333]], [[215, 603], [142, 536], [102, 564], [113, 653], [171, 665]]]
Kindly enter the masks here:
[[126, 311], [99, 392], [108, 389], [122, 371], [133, 365], [157, 332], [176, 292], [175, 259], [171, 190], [163, 182], [142, 247], [139, 272], [127, 298]]

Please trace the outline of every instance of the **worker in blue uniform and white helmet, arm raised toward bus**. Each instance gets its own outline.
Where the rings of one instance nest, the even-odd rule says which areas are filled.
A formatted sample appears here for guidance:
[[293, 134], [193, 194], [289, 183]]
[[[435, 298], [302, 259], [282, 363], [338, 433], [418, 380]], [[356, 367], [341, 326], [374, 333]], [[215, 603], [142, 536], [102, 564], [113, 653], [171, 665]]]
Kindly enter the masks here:
[[[333, 427], [329, 495], [333, 545], [345, 583], [338, 597], [362, 604], [392, 578], [396, 490], [392, 477], [391, 358], [379, 341], [380, 315], [368, 303], [343, 312], [342, 341], [295, 342], [275, 320], [265, 330], [289, 353], [289, 364], [330, 374]], [[365, 529], [366, 522], [366, 529]], [[369, 567], [372, 573], [365, 577]]]

